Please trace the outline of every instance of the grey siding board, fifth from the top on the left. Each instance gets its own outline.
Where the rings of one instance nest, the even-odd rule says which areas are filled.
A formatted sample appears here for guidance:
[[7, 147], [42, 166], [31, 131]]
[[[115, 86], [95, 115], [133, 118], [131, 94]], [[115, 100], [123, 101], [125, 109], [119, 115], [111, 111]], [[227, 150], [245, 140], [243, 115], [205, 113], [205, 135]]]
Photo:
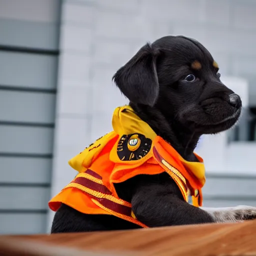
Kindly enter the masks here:
[[0, 184], [49, 184], [51, 158], [0, 156]]

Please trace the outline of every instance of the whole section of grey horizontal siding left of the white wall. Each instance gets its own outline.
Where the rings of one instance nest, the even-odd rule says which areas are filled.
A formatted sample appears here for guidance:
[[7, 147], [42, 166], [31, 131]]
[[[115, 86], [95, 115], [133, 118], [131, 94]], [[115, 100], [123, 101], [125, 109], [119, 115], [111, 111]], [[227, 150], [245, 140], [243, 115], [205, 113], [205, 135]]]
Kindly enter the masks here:
[[46, 231], [60, 0], [0, 0], [0, 233]]

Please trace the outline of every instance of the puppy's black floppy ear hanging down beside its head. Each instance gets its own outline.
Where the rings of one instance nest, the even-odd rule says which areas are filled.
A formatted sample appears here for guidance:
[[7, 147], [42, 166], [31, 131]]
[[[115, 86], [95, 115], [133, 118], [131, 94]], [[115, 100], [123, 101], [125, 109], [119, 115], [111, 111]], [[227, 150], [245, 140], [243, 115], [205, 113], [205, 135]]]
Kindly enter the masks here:
[[156, 73], [158, 49], [146, 43], [113, 75], [117, 87], [133, 103], [154, 105], [159, 92]]

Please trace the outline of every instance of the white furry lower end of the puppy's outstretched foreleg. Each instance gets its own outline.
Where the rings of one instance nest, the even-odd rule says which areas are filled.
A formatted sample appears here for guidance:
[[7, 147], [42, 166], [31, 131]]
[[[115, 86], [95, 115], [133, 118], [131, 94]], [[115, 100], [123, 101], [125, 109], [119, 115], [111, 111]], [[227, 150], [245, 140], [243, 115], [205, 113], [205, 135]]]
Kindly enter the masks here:
[[256, 218], [256, 207], [238, 205], [234, 207], [200, 207], [213, 216], [215, 222], [239, 222]]

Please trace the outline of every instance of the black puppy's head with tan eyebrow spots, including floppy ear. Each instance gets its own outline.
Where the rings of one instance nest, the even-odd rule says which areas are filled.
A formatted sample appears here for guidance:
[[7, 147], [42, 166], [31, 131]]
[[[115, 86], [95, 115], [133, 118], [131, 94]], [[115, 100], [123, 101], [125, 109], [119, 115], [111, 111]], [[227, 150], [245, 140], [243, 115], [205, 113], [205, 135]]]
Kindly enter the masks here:
[[113, 79], [133, 104], [157, 108], [170, 122], [201, 134], [230, 128], [241, 112], [240, 97], [221, 82], [217, 62], [184, 36], [145, 44]]

